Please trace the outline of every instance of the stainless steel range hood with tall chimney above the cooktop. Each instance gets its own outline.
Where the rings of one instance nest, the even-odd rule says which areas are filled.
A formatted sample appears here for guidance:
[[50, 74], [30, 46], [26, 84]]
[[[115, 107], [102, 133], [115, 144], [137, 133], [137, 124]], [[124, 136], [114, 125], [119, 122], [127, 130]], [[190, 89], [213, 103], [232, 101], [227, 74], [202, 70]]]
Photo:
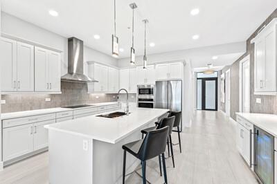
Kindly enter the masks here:
[[83, 42], [75, 37], [69, 38], [68, 72], [61, 77], [65, 82], [98, 82], [84, 75]]

